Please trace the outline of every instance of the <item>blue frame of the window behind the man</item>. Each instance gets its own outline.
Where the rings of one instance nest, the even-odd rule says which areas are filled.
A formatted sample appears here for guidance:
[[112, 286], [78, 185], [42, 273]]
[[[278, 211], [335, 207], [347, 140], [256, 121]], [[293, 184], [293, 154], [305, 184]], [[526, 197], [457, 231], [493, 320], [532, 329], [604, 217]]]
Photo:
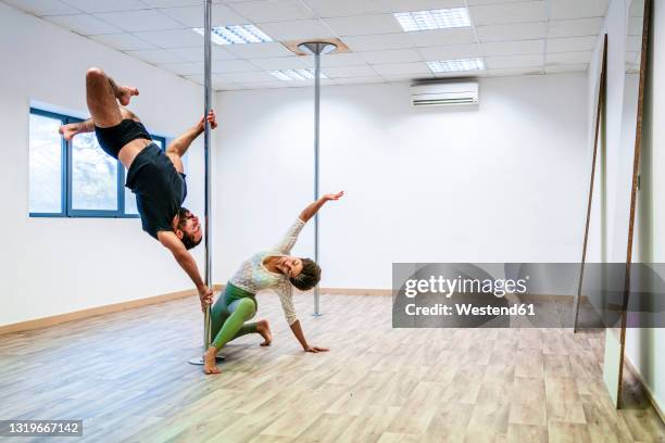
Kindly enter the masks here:
[[[61, 114], [52, 111], [45, 111], [39, 107], [30, 106], [29, 110], [30, 115], [40, 115], [42, 117], [49, 117], [53, 119], [59, 119], [62, 125], [66, 125], [70, 123], [79, 123], [84, 122], [83, 118], [73, 117], [71, 115]], [[153, 141], [159, 141], [162, 143], [162, 149], [166, 150], [166, 137], [150, 135]], [[61, 161], [61, 194], [60, 194], [60, 213], [42, 213], [42, 212], [32, 212], [28, 207], [29, 217], [67, 217], [67, 218], [139, 218], [138, 214], [127, 214], [125, 212], [125, 166], [122, 162], [117, 161], [117, 174], [116, 174], [116, 190], [117, 190], [117, 205], [115, 211], [113, 210], [76, 210], [72, 207], [72, 142], [66, 141], [64, 137], [60, 136], [60, 161]], [[28, 131], [28, 149], [29, 147], [29, 131]], [[28, 164], [28, 174], [29, 174], [29, 164]], [[28, 190], [28, 193], [30, 191]], [[29, 200], [29, 197], [28, 197]], [[29, 206], [29, 205], [28, 205]]]

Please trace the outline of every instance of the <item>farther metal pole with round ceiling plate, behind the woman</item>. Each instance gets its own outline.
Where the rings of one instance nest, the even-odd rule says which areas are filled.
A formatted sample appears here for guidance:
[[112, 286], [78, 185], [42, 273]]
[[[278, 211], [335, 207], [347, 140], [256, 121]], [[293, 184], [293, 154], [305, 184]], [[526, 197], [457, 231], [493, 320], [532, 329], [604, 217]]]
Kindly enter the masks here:
[[[318, 200], [318, 135], [321, 124], [321, 54], [327, 54], [337, 49], [336, 45], [312, 41], [298, 46], [305, 53], [314, 54], [314, 200]], [[314, 261], [318, 263], [318, 213], [314, 215]], [[314, 288], [314, 316], [321, 314], [321, 295], [318, 284]]]

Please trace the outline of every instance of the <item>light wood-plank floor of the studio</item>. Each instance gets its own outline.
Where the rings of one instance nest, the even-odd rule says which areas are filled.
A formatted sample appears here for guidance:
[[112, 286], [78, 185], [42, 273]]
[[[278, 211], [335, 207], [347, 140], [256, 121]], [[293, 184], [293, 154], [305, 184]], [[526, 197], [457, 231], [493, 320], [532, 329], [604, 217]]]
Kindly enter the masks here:
[[[665, 428], [638, 391], [616, 412], [603, 332], [391, 328], [390, 298], [296, 298], [305, 354], [272, 294], [275, 341], [244, 337], [222, 375], [200, 353], [197, 301], [179, 300], [0, 336], [0, 419], [83, 419], [65, 442], [655, 442]], [[10, 439], [2, 439], [10, 441]], [[15, 439], [18, 442], [29, 439]]]

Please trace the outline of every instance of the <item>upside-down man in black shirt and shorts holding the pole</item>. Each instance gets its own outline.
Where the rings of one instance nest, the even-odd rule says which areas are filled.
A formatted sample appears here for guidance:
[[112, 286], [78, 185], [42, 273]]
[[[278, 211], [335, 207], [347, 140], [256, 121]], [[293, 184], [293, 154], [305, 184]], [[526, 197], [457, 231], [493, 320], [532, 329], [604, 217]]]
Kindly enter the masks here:
[[[77, 134], [95, 131], [102, 150], [120, 159], [127, 168], [125, 186], [136, 194], [143, 230], [173, 253], [197, 286], [201, 307], [205, 309], [212, 303], [212, 288], [205, 286], [197, 262], [188, 251], [201, 242], [203, 233], [199, 218], [181, 206], [187, 197], [181, 157], [203, 132], [205, 123], [201, 118], [175, 139], [164, 153], [152, 142], [139, 118], [123, 107], [138, 94], [138, 89], [117, 86], [103, 71], [91, 67], [86, 73], [86, 99], [92, 117], [64, 125], [60, 134], [71, 140]], [[213, 111], [206, 119], [211, 128], [217, 127]]]

